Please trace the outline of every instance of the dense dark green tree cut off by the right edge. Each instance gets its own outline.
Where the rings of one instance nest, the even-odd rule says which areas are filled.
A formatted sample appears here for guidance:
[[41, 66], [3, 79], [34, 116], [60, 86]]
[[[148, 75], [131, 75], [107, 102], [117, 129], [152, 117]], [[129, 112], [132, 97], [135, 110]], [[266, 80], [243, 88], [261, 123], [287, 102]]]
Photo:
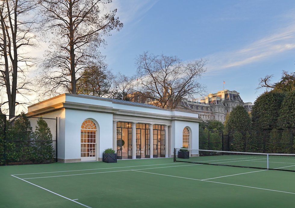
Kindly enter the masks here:
[[278, 129], [295, 129], [295, 90], [288, 92], [281, 104]]

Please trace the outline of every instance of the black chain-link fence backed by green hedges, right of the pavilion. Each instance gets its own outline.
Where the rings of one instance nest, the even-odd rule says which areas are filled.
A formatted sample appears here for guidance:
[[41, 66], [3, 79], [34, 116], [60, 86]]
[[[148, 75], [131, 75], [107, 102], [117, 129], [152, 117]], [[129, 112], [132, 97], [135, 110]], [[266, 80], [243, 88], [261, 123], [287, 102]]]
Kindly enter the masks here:
[[295, 130], [232, 131], [199, 130], [199, 149], [237, 152], [295, 153]]

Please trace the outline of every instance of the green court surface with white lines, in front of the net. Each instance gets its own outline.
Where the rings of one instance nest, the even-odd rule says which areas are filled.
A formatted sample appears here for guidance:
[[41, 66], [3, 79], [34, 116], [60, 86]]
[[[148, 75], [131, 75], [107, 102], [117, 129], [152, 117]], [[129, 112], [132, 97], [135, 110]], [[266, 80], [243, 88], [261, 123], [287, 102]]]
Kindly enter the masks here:
[[0, 167], [0, 207], [293, 207], [295, 172], [173, 158]]

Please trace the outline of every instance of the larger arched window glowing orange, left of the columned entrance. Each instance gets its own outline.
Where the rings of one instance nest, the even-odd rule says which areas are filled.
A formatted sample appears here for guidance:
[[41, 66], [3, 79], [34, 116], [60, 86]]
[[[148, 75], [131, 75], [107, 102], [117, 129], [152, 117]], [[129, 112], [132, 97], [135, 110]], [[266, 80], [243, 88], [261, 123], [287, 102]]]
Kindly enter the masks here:
[[95, 160], [96, 125], [92, 120], [85, 120], [81, 125], [81, 160]]

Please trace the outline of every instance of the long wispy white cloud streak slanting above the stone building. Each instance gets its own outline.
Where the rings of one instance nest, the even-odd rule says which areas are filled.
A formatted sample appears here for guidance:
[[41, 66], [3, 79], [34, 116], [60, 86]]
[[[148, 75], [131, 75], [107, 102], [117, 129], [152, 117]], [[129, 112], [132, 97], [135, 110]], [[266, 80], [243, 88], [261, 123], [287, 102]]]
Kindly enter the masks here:
[[206, 57], [209, 60], [207, 67], [209, 71], [219, 71], [264, 61], [293, 49], [295, 49], [295, 22], [239, 50], [218, 52]]

